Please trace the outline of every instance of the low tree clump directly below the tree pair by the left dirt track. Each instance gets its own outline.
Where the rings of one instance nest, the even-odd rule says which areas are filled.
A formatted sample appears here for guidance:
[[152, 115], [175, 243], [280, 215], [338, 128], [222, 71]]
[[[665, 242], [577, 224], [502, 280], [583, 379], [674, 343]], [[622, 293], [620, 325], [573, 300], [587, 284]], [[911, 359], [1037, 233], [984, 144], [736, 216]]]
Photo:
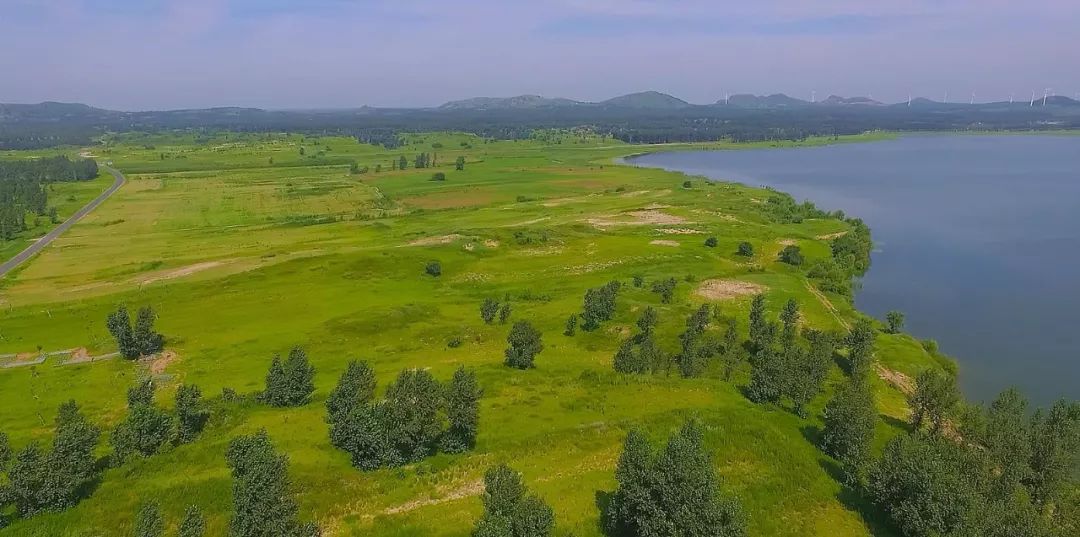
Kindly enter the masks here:
[[154, 405], [153, 393], [150, 378], [127, 389], [127, 415], [109, 435], [114, 464], [123, 464], [132, 455], [149, 457], [168, 443], [191, 442], [210, 418], [198, 386], [177, 388], [174, 414]]

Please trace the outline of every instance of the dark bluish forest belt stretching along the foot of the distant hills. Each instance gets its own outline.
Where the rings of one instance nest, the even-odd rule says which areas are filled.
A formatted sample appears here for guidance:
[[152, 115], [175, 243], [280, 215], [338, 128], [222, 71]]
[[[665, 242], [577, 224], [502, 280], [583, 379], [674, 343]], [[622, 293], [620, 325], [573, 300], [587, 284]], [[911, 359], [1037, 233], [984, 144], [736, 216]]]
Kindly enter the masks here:
[[812, 135], [888, 131], [1080, 129], [1080, 107], [1020, 105], [821, 106], [747, 109], [546, 107], [518, 109], [389, 109], [270, 111], [211, 108], [119, 112], [84, 105], [0, 105], [0, 149], [85, 145], [109, 132], [177, 129], [296, 132], [354, 136], [393, 148], [404, 132], [458, 131], [524, 139], [538, 129], [591, 126], [629, 143], [792, 140]]

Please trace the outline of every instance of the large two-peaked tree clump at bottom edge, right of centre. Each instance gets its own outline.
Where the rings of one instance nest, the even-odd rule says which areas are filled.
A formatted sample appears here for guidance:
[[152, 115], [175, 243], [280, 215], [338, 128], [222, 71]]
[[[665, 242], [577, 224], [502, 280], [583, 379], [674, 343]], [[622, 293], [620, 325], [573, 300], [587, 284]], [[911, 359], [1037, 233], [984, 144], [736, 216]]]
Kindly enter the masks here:
[[626, 537], [741, 537], [740, 502], [720, 491], [701, 427], [689, 421], [654, 453], [631, 431], [616, 468], [619, 486], [603, 513], [609, 535]]

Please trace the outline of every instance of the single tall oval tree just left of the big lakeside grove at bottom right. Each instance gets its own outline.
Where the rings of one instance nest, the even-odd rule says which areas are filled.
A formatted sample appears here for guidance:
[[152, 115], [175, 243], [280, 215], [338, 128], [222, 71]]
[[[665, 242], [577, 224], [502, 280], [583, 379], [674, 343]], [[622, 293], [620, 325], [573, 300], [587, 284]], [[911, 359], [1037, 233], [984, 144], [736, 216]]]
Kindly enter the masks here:
[[870, 460], [877, 408], [868, 381], [849, 379], [825, 405], [822, 449], [840, 462], [849, 485], [862, 482]]

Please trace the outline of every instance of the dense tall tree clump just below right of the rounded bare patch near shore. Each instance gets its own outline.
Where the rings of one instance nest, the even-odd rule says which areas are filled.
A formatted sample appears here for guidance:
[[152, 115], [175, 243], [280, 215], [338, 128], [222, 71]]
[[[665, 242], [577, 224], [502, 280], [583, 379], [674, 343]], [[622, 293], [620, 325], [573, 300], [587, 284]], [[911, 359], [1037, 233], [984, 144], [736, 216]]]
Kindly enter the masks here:
[[[794, 298], [784, 305], [778, 324], [766, 318], [765, 296], [754, 297], [747, 344], [751, 400], [780, 403], [787, 399], [796, 414], [805, 415], [806, 404], [824, 387], [839, 338], [819, 331], [807, 331], [801, 336], [799, 306]], [[802, 345], [800, 339], [809, 345]]]

